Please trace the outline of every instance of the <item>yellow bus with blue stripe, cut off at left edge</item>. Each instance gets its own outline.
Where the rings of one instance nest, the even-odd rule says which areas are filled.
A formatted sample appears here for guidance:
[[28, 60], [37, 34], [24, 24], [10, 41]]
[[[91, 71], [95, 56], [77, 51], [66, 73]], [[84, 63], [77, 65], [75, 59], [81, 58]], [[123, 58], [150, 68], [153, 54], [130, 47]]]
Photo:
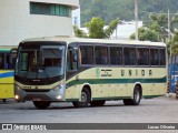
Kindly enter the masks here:
[[14, 99], [16, 47], [0, 47], [0, 100]]

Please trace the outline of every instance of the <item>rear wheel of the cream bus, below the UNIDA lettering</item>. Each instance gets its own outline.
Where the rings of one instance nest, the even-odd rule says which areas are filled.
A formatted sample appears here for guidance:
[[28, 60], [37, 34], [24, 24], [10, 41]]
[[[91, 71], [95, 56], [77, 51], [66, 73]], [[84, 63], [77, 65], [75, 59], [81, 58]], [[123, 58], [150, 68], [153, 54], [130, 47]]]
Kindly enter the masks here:
[[125, 105], [139, 105], [141, 100], [141, 91], [138, 85], [135, 86], [134, 90], [134, 99], [123, 100]]

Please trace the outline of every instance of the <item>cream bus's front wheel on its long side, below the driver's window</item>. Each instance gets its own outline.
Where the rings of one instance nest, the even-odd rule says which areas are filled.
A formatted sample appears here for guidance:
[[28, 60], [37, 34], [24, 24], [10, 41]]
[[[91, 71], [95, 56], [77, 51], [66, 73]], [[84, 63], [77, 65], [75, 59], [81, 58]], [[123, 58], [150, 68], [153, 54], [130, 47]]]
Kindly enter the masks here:
[[76, 108], [87, 108], [91, 99], [91, 94], [87, 88], [82, 89], [81, 102], [72, 102]]

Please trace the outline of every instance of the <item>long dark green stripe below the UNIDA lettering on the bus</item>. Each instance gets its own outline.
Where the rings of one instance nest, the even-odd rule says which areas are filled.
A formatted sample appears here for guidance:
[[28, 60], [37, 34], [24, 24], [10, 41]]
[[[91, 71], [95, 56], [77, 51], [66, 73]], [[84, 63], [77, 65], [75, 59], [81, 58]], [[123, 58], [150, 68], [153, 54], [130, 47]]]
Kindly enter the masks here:
[[166, 83], [167, 76], [160, 79], [81, 79], [81, 80], [72, 80], [67, 83], [67, 86], [72, 86], [77, 84], [117, 84], [117, 83]]

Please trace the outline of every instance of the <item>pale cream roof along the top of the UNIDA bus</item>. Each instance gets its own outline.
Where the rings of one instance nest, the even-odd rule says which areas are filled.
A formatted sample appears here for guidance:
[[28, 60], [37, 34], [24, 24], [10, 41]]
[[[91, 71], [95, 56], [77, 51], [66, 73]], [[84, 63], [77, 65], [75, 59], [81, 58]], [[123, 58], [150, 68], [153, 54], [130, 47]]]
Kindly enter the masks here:
[[135, 40], [109, 40], [109, 39], [86, 39], [86, 38], [70, 38], [70, 37], [43, 37], [26, 39], [23, 42], [38, 42], [38, 41], [52, 41], [52, 42], [86, 42], [86, 43], [109, 43], [109, 44], [136, 44], [136, 45], [152, 45], [152, 47], [166, 47], [164, 42], [151, 42], [151, 41], [135, 41]]

